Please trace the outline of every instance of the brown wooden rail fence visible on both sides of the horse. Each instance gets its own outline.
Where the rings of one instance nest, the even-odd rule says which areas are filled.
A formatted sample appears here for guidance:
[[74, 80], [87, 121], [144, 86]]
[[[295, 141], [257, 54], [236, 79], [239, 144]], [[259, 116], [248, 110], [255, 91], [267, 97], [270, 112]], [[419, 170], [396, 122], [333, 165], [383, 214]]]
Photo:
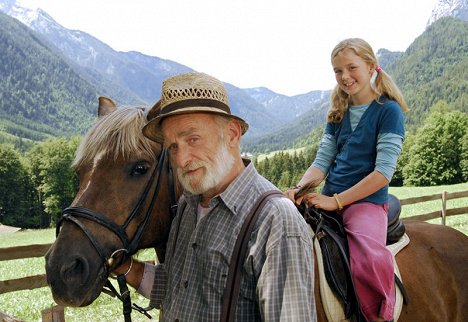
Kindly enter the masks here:
[[[442, 224], [445, 225], [445, 218], [448, 216], [468, 214], [468, 206], [447, 209], [447, 200], [466, 198], [466, 197], [468, 197], [468, 190], [459, 191], [459, 192], [444, 191], [441, 194], [438, 193], [438, 194], [421, 196], [421, 197], [401, 199], [400, 201], [401, 201], [401, 205], [405, 206], [405, 205], [412, 205], [416, 203], [440, 199], [442, 201], [441, 210], [433, 211], [433, 212], [422, 214], [422, 215], [405, 217], [405, 219], [415, 219], [415, 220], [426, 221], [426, 220], [430, 220], [434, 218], [441, 218]], [[32, 257], [43, 257], [51, 245], [52, 244], [42, 244], [42, 245], [29, 245], [29, 246], [0, 248], [0, 261], [32, 258]], [[27, 277], [22, 277], [22, 278], [17, 278], [17, 279], [0, 281], [0, 294], [4, 294], [8, 292], [15, 292], [15, 291], [22, 291], [22, 290], [32, 290], [32, 289], [40, 288], [44, 286], [47, 286], [45, 274], [27, 276]], [[3, 319], [2, 315], [5, 316], [6, 321], [19, 321], [18, 319], [6, 316], [2, 312], [0, 312], [0, 318], [2, 319]], [[11, 318], [11, 320], [8, 320], [8, 318]], [[65, 321], [63, 307], [54, 306], [52, 308], [42, 311], [42, 321], [43, 322]]]

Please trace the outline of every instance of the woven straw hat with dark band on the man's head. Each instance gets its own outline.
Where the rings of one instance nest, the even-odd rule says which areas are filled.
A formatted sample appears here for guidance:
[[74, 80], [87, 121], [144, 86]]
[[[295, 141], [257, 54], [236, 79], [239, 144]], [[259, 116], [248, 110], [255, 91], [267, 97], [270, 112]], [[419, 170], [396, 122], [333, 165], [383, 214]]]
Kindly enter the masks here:
[[234, 118], [240, 121], [242, 134], [249, 128], [246, 121], [231, 114], [223, 83], [207, 74], [188, 73], [170, 77], [163, 82], [161, 99], [148, 112], [149, 122], [143, 127], [143, 134], [162, 143], [162, 120], [187, 113], [213, 113]]

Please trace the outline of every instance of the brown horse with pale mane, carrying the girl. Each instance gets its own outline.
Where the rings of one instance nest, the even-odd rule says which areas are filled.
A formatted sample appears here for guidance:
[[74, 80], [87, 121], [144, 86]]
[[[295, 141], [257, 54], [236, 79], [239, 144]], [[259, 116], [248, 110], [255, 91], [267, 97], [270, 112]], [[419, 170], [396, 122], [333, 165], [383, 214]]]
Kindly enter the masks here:
[[[80, 190], [72, 207], [65, 211], [67, 219], [59, 224], [57, 240], [46, 256], [47, 280], [54, 299], [67, 306], [85, 306], [96, 299], [109, 272], [127, 255], [119, 252], [124, 248], [122, 239], [138, 234], [145, 213], [151, 216], [136, 248], [163, 249], [171, 222], [171, 189], [167, 184], [171, 174], [160, 166], [164, 163], [161, 146], [141, 134], [145, 112], [116, 109], [109, 99], [100, 99], [99, 116], [75, 159]], [[154, 169], [160, 171], [152, 183]], [[153, 203], [150, 199], [157, 182], [159, 194]], [[149, 197], [141, 201], [147, 189]], [[114, 231], [108, 222], [122, 227], [139, 201], [139, 214], [125, 226], [126, 237], [119, 237], [123, 233], [117, 233], [118, 228]], [[405, 226], [411, 242], [397, 255], [397, 262], [409, 304], [403, 306], [399, 321], [466, 321], [468, 237], [455, 229], [424, 222], [405, 221]], [[113, 260], [108, 260], [110, 257]], [[326, 321], [317, 282], [318, 278], [318, 321]]]

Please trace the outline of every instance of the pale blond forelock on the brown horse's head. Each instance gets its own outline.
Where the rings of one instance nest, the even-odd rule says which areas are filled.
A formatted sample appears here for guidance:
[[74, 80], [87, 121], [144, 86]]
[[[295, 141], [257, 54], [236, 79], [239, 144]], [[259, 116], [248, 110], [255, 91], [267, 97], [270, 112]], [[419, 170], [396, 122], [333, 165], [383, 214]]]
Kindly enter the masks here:
[[143, 107], [121, 107], [99, 117], [81, 141], [72, 166], [92, 162], [98, 154], [114, 159], [143, 154], [154, 159], [154, 145], [142, 133], [146, 113]]

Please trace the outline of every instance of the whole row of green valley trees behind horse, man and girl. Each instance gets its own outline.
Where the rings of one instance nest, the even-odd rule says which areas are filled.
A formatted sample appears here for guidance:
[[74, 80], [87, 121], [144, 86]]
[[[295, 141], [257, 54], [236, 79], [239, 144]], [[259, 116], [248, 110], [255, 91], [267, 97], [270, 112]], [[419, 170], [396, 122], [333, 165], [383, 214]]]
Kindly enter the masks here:
[[[407, 132], [391, 185], [434, 186], [468, 181], [468, 114], [438, 102], [423, 125]], [[71, 168], [80, 137], [15, 146], [0, 143], [0, 223], [53, 225], [78, 191]], [[260, 174], [281, 190], [294, 186], [315, 158], [318, 136], [299, 152], [254, 158]]]

